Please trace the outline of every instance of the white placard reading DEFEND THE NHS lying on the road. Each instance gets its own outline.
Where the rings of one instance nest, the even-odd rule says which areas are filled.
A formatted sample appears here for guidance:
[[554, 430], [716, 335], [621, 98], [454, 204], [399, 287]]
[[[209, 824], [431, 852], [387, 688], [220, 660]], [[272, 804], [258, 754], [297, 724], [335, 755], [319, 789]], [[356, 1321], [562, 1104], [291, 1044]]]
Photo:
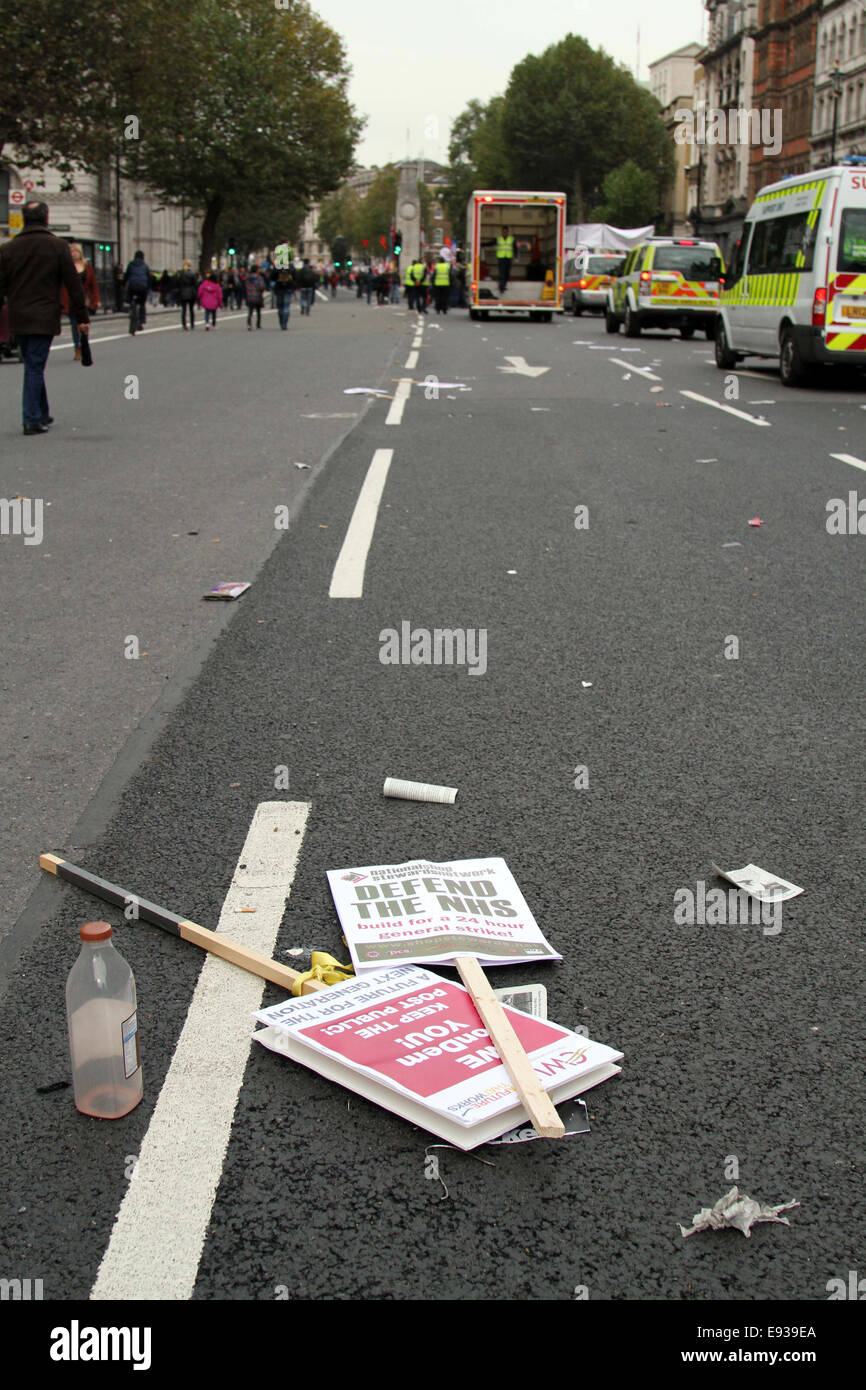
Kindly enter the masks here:
[[481, 965], [562, 960], [505, 859], [329, 869], [328, 883], [359, 973], [393, 960], [449, 963], [459, 955]]

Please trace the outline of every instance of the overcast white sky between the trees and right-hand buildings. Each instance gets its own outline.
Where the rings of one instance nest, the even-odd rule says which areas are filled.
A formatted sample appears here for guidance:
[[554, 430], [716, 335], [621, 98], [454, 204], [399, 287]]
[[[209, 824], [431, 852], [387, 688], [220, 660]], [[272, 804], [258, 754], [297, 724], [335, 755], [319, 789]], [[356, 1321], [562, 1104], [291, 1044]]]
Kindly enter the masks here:
[[[706, 32], [701, 0], [311, 0], [343, 39], [353, 75], [350, 96], [367, 115], [359, 163], [386, 164], [407, 154], [448, 163], [450, 122], [471, 97], [505, 92], [527, 53], [542, 53], [566, 33], [641, 72]], [[409, 132], [409, 135], [407, 135]]]

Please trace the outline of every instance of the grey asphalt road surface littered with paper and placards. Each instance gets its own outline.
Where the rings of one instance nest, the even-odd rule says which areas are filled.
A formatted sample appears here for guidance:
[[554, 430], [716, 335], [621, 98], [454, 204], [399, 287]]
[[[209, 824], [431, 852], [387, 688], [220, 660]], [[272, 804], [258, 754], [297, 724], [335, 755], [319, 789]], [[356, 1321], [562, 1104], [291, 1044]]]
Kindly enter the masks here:
[[[495, 1166], [439, 1151], [443, 1198], [425, 1177], [428, 1136], [252, 1047], [192, 1295], [559, 1301], [584, 1289], [589, 1300], [826, 1301], [828, 1280], [862, 1265], [866, 1226], [866, 542], [826, 527], [830, 499], [866, 492], [862, 467], [833, 457], [866, 466], [863, 385], [790, 392], [749, 368], [726, 399], [703, 339], [631, 342], [596, 318], [470, 324], [453, 313], [430, 316], [406, 368], [414, 321], [363, 306], [353, 324], [357, 307], [322, 304], [303, 325], [322, 338], [282, 373], [274, 353], [299, 345], [295, 322], [285, 343], [264, 331], [249, 342], [234, 322], [207, 342], [174, 332], [103, 349], [118, 384], [133, 352], [142, 381], [154, 374], [153, 403], [129, 425], [138, 407], [120, 385], [99, 409], [63, 388], [83, 443], [71, 448], [92, 470], [75, 502], [81, 553], [104, 555], [108, 530], [128, 563], [117, 587], [106, 563], [85, 563], [75, 578], [90, 585], [67, 588], [64, 610], [85, 609], [95, 634], [88, 733], [71, 724], [67, 689], [63, 739], [46, 735], [46, 746], [81, 770], [85, 737], [99, 741], [103, 677], [113, 746], [101, 767], [124, 721], [149, 709], [158, 688], [143, 662], [121, 703], [133, 664], [118, 659], [124, 632], [147, 632], [163, 674], [181, 669], [192, 628], [213, 644], [72, 858], [215, 926], [256, 808], [309, 803], [274, 951], [295, 963], [286, 952], [297, 948], [342, 951], [327, 869], [503, 855], [564, 959], [500, 967], [495, 984], [546, 984], [550, 1017], [620, 1048], [623, 1074], [587, 1097], [589, 1136], [481, 1151]], [[509, 357], [549, 370], [503, 371]], [[400, 377], [416, 382], [400, 424], [386, 424], [391, 402], [342, 395], [349, 384], [392, 391]], [[470, 389], [436, 391], [431, 377]], [[313, 399], [316, 410], [360, 410], [327, 461], [339, 421], [331, 435], [313, 423], [296, 434]], [[138, 480], [128, 498], [120, 485], [107, 495], [121, 438]], [[42, 482], [25, 477], [22, 446], [28, 460], [46, 446], [44, 477], [58, 502], [71, 498], [70, 442], [58, 427], [21, 441], [22, 482]], [[332, 599], [379, 448], [393, 459], [363, 598]], [[309, 486], [286, 493], [285, 460], [304, 450]], [[284, 496], [292, 524], [274, 545], [267, 512]], [[51, 525], [71, 582], [75, 543]], [[202, 556], [211, 534], [218, 566]], [[154, 555], [161, 574], [145, 581]], [[199, 605], [207, 582], [252, 567], [238, 605]], [[13, 567], [21, 602], [26, 582]], [[18, 624], [13, 670], [32, 689], [47, 670], [60, 702], [47, 580], [35, 598], [42, 648], [25, 649]], [[402, 621], [484, 630], [487, 670], [382, 664], [379, 634]], [[726, 657], [731, 637], [737, 659]], [[275, 791], [281, 766], [289, 785]], [[459, 787], [457, 802], [386, 801], [385, 776]], [[44, 835], [71, 826], [89, 790], [72, 784], [65, 820], [39, 799], [24, 812], [28, 867], [40, 849], [64, 852]], [[758, 863], [805, 892], [784, 905], [777, 934], [676, 924], [674, 894], [709, 880], [710, 860]], [[63, 987], [76, 926], [103, 915], [135, 970], [145, 1059], [145, 1101], [111, 1126], [76, 1115], [68, 1091], [36, 1091], [68, 1076]], [[192, 947], [54, 881], [11, 933], [4, 1264], [43, 1277], [46, 1298], [95, 1286], [200, 969]], [[218, 1066], [206, 1059], [189, 1084], [215, 1105]], [[684, 1240], [677, 1223], [734, 1173], [763, 1202], [796, 1200], [790, 1227], [759, 1226], [748, 1243], [738, 1232]]]

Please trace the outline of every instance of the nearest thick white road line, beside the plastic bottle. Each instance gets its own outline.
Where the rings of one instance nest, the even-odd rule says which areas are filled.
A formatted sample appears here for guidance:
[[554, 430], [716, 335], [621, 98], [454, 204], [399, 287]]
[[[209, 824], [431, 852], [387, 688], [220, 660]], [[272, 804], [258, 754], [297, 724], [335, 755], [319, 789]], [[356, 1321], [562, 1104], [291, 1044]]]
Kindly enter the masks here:
[[[309, 812], [303, 802], [261, 802], [220, 913], [218, 931], [268, 956]], [[252, 905], [256, 912], [242, 916]], [[90, 1298], [192, 1297], [250, 1052], [250, 1013], [261, 1008], [263, 992], [259, 976], [204, 958]]]

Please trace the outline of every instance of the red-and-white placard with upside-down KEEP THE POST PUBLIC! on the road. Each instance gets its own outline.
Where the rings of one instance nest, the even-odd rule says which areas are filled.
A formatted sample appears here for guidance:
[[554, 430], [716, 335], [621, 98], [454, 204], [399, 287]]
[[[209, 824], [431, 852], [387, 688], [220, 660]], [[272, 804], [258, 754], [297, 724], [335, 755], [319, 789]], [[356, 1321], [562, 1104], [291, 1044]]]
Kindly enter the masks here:
[[[621, 1052], [517, 1009], [506, 1013], [553, 1104], [616, 1076]], [[414, 965], [375, 970], [254, 1015], [272, 1052], [375, 1101], [459, 1148], [528, 1123], [460, 984]]]

